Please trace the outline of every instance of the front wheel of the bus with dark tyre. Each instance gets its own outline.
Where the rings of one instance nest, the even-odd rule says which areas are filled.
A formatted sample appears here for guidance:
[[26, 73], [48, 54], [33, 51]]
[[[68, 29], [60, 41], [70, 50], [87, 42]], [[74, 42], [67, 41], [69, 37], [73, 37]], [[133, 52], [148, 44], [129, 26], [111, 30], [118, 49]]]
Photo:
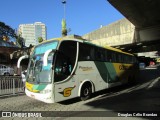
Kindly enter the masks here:
[[89, 84], [85, 84], [82, 86], [82, 89], [81, 89], [81, 100], [85, 101], [87, 99], [89, 99], [91, 97], [91, 94], [92, 94], [92, 88], [91, 88], [91, 85]]

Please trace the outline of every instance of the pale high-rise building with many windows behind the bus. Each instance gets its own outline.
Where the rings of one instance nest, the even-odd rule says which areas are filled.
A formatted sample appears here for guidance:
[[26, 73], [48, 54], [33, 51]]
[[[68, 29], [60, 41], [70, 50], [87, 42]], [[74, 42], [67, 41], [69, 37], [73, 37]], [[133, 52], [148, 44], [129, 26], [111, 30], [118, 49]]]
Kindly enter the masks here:
[[39, 37], [46, 40], [46, 31], [45, 24], [41, 22], [35, 22], [34, 24], [20, 24], [18, 28], [18, 34], [24, 39], [25, 46], [27, 47], [29, 47], [30, 44], [37, 45]]

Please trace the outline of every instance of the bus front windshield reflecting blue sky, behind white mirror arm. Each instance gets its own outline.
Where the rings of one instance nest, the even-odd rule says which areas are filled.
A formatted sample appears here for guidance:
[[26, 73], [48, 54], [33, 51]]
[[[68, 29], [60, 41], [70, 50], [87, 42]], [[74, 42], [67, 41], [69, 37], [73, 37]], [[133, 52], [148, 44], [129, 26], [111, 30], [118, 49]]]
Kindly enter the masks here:
[[51, 52], [48, 56], [47, 66], [43, 66], [43, 56], [44, 53], [49, 49], [56, 49], [58, 41], [47, 42], [40, 44], [35, 47], [33, 54], [30, 57], [28, 71], [27, 71], [27, 81], [34, 83], [50, 83], [51, 73], [52, 73], [52, 62], [54, 52]]

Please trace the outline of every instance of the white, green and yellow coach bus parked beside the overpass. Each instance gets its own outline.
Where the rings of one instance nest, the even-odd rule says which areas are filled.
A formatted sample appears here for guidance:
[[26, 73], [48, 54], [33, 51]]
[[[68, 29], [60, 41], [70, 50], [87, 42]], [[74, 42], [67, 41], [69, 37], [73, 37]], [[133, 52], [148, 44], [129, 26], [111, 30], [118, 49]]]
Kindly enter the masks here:
[[136, 57], [112, 47], [79, 39], [50, 40], [34, 47], [29, 57], [25, 93], [55, 103], [133, 81]]

